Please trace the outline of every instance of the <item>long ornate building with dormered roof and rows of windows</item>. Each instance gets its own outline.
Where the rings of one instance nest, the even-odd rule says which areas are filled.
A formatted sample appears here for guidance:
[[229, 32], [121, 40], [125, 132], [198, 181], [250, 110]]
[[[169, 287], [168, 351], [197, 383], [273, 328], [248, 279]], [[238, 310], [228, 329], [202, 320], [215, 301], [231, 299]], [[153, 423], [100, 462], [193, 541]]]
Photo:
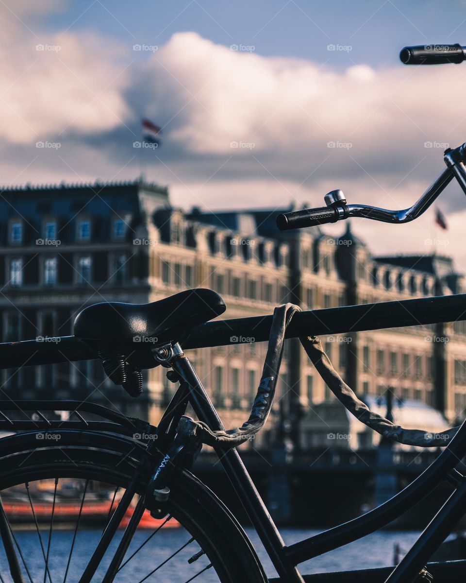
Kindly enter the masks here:
[[[190, 287], [223, 296], [225, 318], [270, 314], [285, 301], [311, 310], [463, 291], [448, 257], [373, 257], [349, 228], [340, 238], [317, 227], [280, 233], [275, 219], [283, 209], [183, 212], [171, 206], [167, 188], [142, 180], [10, 188], [0, 210], [3, 341], [48, 342], [72, 334], [87, 305], [145, 303]], [[322, 339], [358, 394], [391, 387], [449, 420], [464, 416], [464, 322]], [[247, 419], [265, 352], [266, 343], [244, 341], [190, 351], [226, 426]], [[163, 373], [146, 371], [147, 389], [135, 401], [105, 378], [98, 360], [6, 370], [2, 390], [89, 397], [156, 423], [174, 390]], [[332, 398], [299, 343], [287, 342], [270, 427], [280, 409], [298, 420], [312, 403]]]

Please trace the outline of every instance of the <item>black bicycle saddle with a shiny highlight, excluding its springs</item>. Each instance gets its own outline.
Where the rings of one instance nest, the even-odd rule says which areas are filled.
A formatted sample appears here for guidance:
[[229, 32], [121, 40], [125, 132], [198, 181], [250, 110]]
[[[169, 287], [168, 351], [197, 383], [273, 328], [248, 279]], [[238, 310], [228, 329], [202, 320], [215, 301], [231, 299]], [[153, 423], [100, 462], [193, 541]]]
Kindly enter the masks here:
[[[76, 338], [115, 345], [177, 342], [196, 324], [225, 311], [223, 299], [212, 290], [198, 288], [149, 304], [117, 301], [93, 304], [80, 311], [73, 327]], [[134, 344], [133, 344], [134, 343]]]

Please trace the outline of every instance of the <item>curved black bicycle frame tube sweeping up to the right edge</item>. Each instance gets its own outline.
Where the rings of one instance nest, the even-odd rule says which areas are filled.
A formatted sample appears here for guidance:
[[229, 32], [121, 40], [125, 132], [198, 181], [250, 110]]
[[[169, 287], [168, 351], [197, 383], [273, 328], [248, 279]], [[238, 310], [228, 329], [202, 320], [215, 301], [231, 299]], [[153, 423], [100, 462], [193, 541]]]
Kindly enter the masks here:
[[450, 469], [458, 465], [465, 454], [466, 421], [463, 422], [449, 446], [404, 490], [358, 518], [288, 546], [285, 550], [287, 556], [294, 564], [303, 563], [386, 526], [445, 480]]

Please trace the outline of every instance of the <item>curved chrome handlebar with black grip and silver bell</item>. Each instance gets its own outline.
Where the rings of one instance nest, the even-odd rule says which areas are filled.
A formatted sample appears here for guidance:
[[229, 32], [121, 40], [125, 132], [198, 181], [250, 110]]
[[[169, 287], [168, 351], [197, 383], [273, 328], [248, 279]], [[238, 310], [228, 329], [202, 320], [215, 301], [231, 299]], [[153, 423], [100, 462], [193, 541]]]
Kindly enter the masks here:
[[277, 227], [281, 231], [302, 229], [325, 223], [336, 223], [348, 217], [378, 220], [383, 223], [409, 223], [421, 216], [446, 186], [456, 178], [466, 194], [466, 143], [456, 149], [447, 149], [444, 154], [446, 168], [423, 193], [421, 198], [407, 209], [389, 210], [369, 205], [348, 205], [341, 190], [334, 190], [324, 197], [326, 207], [295, 210], [277, 216]]

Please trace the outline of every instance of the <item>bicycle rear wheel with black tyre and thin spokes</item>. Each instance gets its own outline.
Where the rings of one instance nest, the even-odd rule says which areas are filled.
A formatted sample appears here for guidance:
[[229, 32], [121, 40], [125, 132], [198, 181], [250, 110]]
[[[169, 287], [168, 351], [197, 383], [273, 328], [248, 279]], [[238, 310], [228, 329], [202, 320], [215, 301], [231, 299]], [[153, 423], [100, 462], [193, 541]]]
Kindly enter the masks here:
[[[76, 583], [130, 482], [140, 450], [133, 448], [128, 455], [65, 444], [37, 449], [33, 439], [29, 447], [24, 435], [16, 448], [10, 441], [9, 455], [0, 459], [0, 496], [17, 560], [24, 582]], [[143, 477], [137, 494], [146, 485]], [[175, 471], [168, 512], [169, 518], [157, 522], [144, 514], [115, 583], [267, 581], [241, 526], [189, 472]], [[102, 580], [122, 532], [115, 535], [92, 581]], [[0, 552], [0, 583], [10, 581], [5, 553]]]

